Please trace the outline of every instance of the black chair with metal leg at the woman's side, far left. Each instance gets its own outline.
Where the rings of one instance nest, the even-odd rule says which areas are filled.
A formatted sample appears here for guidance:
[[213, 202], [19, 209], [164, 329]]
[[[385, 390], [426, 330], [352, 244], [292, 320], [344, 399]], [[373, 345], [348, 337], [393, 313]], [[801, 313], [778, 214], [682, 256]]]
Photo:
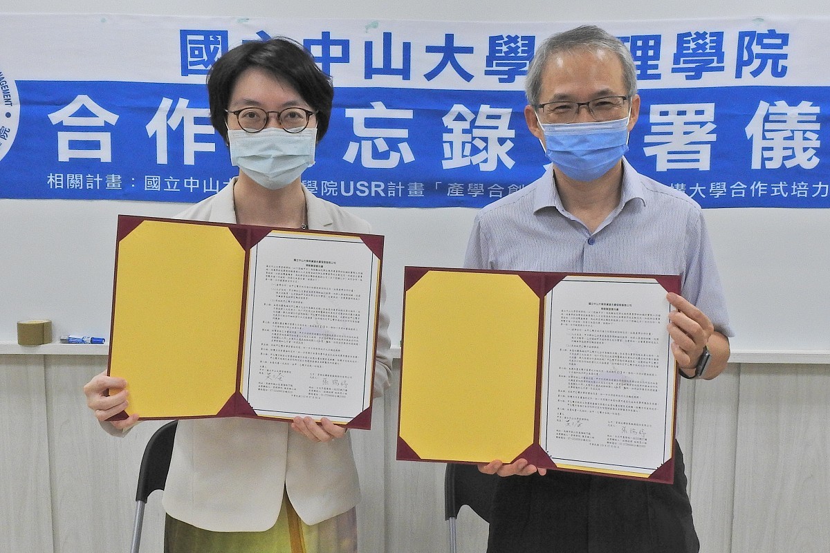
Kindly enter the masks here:
[[135, 489], [135, 521], [133, 541], [129, 551], [138, 553], [141, 545], [141, 528], [144, 524], [144, 505], [149, 495], [163, 490], [170, 469], [170, 455], [173, 454], [173, 439], [176, 438], [176, 424], [171, 420], [160, 426], [144, 447], [144, 457], [139, 468], [139, 484]]

